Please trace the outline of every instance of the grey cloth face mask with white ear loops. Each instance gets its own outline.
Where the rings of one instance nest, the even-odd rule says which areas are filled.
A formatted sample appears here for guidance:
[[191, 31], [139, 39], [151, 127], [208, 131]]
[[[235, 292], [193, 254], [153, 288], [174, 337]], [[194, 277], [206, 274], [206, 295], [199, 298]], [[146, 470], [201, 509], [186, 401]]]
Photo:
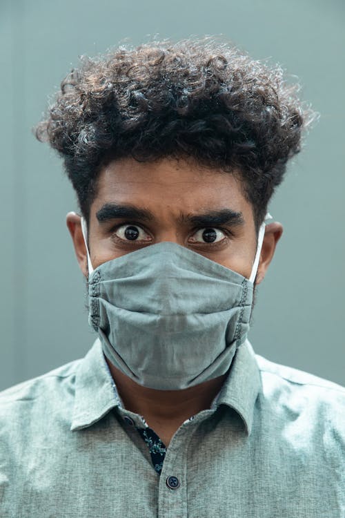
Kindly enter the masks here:
[[[161, 242], [89, 266], [89, 323], [133, 381], [180, 390], [228, 371], [249, 329], [253, 282], [199, 253]], [[85, 242], [86, 224], [82, 220]], [[87, 247], [87, 245], [86, 245]]]

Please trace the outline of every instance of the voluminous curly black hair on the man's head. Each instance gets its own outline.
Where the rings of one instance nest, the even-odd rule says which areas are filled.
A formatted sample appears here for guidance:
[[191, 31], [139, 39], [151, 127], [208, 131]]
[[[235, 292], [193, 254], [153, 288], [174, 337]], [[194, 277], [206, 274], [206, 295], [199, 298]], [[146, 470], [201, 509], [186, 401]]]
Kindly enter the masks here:
[[63, 157], [87, 221], [111, 160], [175, 157], [239, 175], [259, 227], [313, 119], [280, 66], [213, 37], [80, 59], [34, 131]]

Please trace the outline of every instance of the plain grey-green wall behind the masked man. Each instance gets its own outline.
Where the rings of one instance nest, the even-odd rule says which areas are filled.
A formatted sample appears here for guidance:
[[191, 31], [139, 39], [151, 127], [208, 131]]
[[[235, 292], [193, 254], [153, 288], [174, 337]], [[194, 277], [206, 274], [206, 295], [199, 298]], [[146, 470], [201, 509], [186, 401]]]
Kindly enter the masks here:
[[0, 389], [95, 338], [65, 225], [75, 197], [30, 128], [79, 55], [157, 34], [224, 34], [297, 75], [321, 113], [270, 207], [285, 231], [250, 338], [273, 361], [344, 384], [344, 13], [340, 0], [0, 0]]

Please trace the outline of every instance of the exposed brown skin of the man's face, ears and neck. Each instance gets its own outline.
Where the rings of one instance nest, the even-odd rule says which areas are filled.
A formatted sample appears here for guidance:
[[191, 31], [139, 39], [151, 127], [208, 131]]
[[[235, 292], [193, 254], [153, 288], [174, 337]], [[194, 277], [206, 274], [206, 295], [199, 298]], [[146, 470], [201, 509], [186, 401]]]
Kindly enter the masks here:
[[[113, 203], [145, 209], [152, 213], [152, 218], [99, 221], [97, 213], [106, 204]], [[218, 229], [212, 227], [216, 231], [216, 242], [204, 242], [204, 229], [195, 227], [188, 216], [222, 209], [241, 213], [242, 222], [222, 224]], [[87, 278], [86, 246], [80, 216], [68, 213], [66, 221], [79, 266]], [[128, 226], [136, 227], [137, 239], [126, 239], [124, 231]], [[280, 223], [266, 225], [256, 285], [264, 279], [282, 231]], [[188, 247], [249, 278], [257, 236], [253, 208], [244, 196], [240, 181], [229, 173], [201, 168], [186, 160], [139, 163], [128, 158], [110, 162], [99, 175], [97, 195], [90, 207], [88, 245], [92, 266], [96, 268], [139, 247], [162, 241]], [[184, 390], [156, 390], [138, 385], [107, 358], [106, 361], [126, 409], [144, 416], [167, 447], [186, 419], [210, 408], [226, 378], [224, 374]]]

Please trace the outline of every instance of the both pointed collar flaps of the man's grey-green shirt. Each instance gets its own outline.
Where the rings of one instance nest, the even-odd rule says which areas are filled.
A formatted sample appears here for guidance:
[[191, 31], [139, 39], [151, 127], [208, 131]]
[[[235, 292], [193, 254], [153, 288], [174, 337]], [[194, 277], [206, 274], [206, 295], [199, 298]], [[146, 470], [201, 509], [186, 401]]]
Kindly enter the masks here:
[[[221, 403], [233, 408], [250, 434], [254, 405], [261, 386], [259, 367], [248, 340], [240, 345], [224, 385], [212, 406]], [[70, 430], [81, 430], [96, 423], [112, 408], [124, 407], [103, 356], [99, 338], [79, 363], [75, 380], [75, 405]]]

